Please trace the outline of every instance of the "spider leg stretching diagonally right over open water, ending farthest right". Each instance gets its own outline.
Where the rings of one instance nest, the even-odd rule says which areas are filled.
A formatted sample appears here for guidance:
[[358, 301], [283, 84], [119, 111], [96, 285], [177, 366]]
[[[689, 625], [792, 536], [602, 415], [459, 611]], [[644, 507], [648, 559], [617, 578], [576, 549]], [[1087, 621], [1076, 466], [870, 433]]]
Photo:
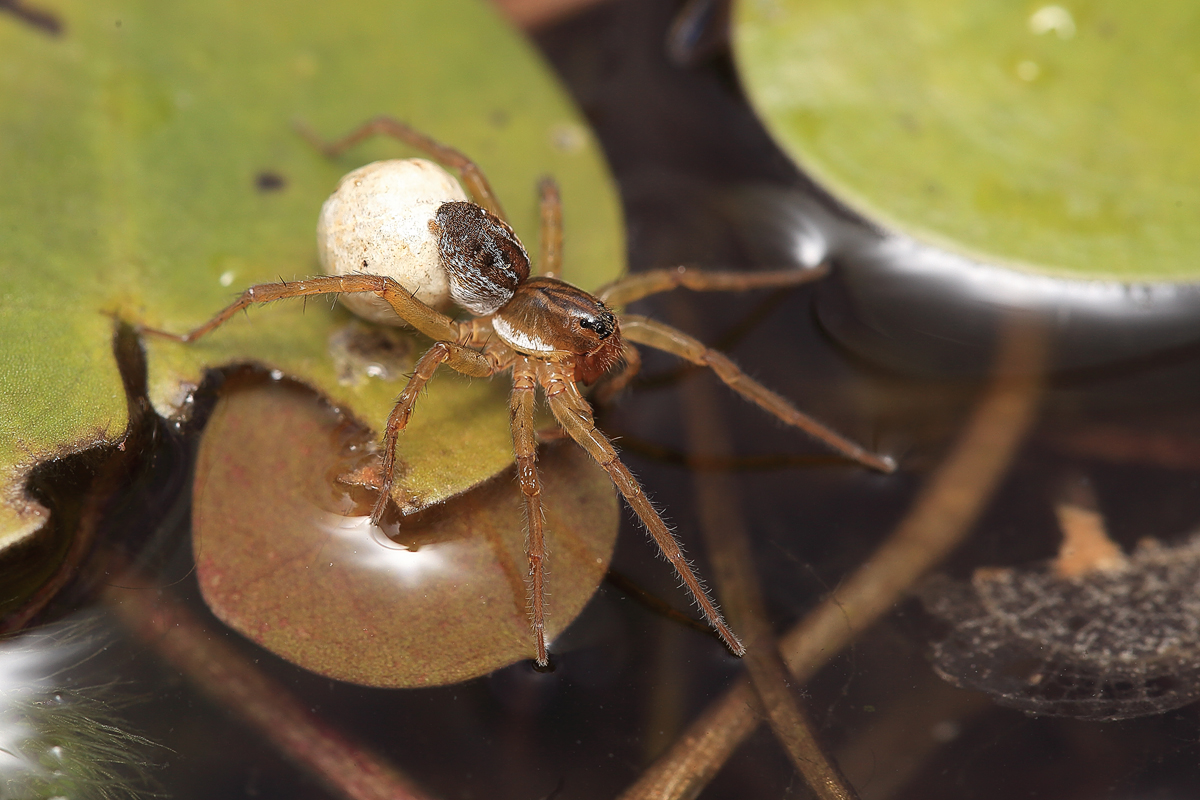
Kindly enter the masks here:
[[800, 428], [809, 435], [820, 439], [847, 458], [883, 473], [890, 473], [895, 469], [895, 462], [890, 458], [876, 456], [850, 439], [834, 433], [808, 414], [802, 413], [784, 397], [742, 372], [724, 353], [704, 347], [683, 331], [635, 314], [620, 318], [620, 330], [622, 335], [631, 342], [665, 350], [695, 365], [712, 368], [730, 389], [751, 403], [760, 405], [787, 425]]

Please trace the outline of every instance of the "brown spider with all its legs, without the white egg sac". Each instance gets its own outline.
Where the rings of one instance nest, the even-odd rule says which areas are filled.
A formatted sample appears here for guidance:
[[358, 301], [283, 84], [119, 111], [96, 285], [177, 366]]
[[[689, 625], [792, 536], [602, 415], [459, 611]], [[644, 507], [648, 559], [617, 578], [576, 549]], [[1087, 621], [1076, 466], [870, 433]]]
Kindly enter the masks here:
[[[853, 461], [892, 471], [892, 459], [868, 452], [804, 415], [785, 398], [742, 372], [725, 355], [662, 323], [634, 314], [618, 315], [613, 311], [678, 287], [700, 291], [786, 287], [810, 281], [822, 271], [736, 273], [676, 267], [631, 275], [589, 294], [556, 277], [562, 260], [563, 234], [562, 205], [552, 179], [542, 179], [539, 185], [540, 269], [538, 275], [532, 275], [529, 255], [505, 222], [486, 176], [460, 151], [386, 116], [376, 118], [342, 139], [328, 144], [311, 132], [301, 131], [301, 134], [329, 157], [335, 157], [372, 136], [388, 136], [458, 172], [473, 201], [442, 203], [428, 227], [437, 240], [438, 260], [449, 277], [450, 296], [472, 317], [452, 319], [418, 300], [409, 289], [390, 277], [349, 273], [253, 285], [208, 323], [187, 333], [149, 327], [143, 327], [143, 332], [187, 343], [205, 336], [239, 311], [257, 303], [320, 294], [370, 293], [380, 297], [404, 323], [433, 339], [433, 344], [418, 359], [408, 384], [388, 417], [383, 435], [382, 485], [371, 512], [373, 523], [379, 524], [390, 503], [396, 440], [412, 416], [421, 389], [438, 367], [445, 365], [475, 378], [510, 372], [512, 449], [527, 511], [529, 618], [535, 639], [536, 664], [548, 664], [545, 634], [545, 522], [536, 467], [538, 432], [534, 426], [539, 387], [563, 431], [608, 473], [662, 555], [683, 579], [708, 624], [732, 652], [744, 655], [745, 646], [725, 622], [716, 603], [684, 558], [674, 534], [646, 497], [637, 479], [622, 463], [612, 443], [596, 429], [592, 407], [584, 399], [580, 384], [593, 384], [601, 377], [607, 377], [607, 383], [601, 386], [611, 396], [632, 379], [641, 365], [632, 343], [656, 348], [712, 368], [733, 391]], [[624, 366], [616, 369], [620, 362]]]

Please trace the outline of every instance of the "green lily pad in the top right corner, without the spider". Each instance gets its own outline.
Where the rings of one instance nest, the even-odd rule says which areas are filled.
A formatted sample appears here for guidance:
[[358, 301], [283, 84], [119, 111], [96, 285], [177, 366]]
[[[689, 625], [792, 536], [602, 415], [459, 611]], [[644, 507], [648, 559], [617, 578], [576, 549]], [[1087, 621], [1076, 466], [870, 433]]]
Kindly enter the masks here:
[[745, 0], [738, 67], [780, 145], [866, 218], [1043, 275], [1200, 276], [1200, 11]]

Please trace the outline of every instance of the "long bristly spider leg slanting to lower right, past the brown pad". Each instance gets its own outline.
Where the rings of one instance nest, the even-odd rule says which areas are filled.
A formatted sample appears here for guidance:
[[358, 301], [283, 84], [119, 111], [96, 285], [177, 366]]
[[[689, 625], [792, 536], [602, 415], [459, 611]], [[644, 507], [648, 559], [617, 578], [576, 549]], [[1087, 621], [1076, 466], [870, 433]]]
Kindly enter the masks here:
[[713, 626], [718, 636], [725, 640], [725, 644], [736, 655], [745, 655], [745, 646], [738, 640], [733, 631], [730, 630], [730, 626], [725, 624], [725, 619], [721, 618], [721, 612], [718, 610], [716, 603], [708, 596], [708, 591], [701, 584], [700, 578], [696, 577], [691, 565], [688, 564], [688, 559], [684, 558], [674, 534], [671, 533], [662, 517], [655, 511], [654, 505], [647, 499], [646, 492], [642, 491], [637, 479], [620, 462], [612, 443], [596, 429], [595, 422], [592, 419], [592, 409], [580, 395], [574, 375], [563, 365], [553, 362], [544, 362], [544, 365], [541, 385], [546, 391], [546, 399], [554, 413], [554, 419], [558, 420], [558, 423], [571, 434], [571, 438], [581, 447], [588, 451], [588, 455], [595, 458], [596, 463], [605, 468], [617, 489], [634, 510], [634, 513], [637, 515], [637, 518], [646, 525], [650, 536], [654, 537], [659, 549], [662, 551], [662, 555], [666, 557], [671, 566], [679, 573], [684, 585], [688, 587], [688, 591], [691, 593], [708, 624]]

